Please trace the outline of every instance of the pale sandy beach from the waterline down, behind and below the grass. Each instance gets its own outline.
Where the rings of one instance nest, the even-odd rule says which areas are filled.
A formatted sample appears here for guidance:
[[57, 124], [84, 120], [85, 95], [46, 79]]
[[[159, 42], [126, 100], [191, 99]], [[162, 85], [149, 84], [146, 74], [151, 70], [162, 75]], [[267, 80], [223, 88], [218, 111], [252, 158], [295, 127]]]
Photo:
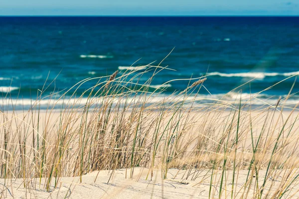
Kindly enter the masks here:
[[[77, 165], [77, 160], [82, 148], [80, 145], [82, 142], [82, 136], [80, 136], [81, 121], [82, 118], [86, 119], [84, 128], [96, 128], [93, 121], [97, 118], [98, 110], [90, 110], [89, 115], [84, 115], [83, 112], [84, 110], [77, 110], [62, 113], [59, 110], [53, 110], [53, 112], [40, 111], [39, 114], [28, 112], [2, 113], [2, 116], [5, 115], [5, 117], [1, 117], [2, 128], [5, 127], [3, 129], [14, 132], [10, 133], [10, 137], [8, 136], [8, 140], [10, 139], [8, 143], [11, 146], [21, 145], [19, 143], [24, 143], [27, 146], [26, 151], [22, 152], [26, 153], [27, 158], [24, 160], [27, 166], [24, 167], [23, 173], [16, 172], [17, 167], [10, 169], [7, 166], [7, 169], [10, 170], [7, 174], [9, 177], [5, 180], [0, 179], [2, 198], [172, 199], [179, 197], [182, 199], [239, 199], [278, 196], [281, 198], [299, 197], [297, 176], [299, 174], [299, 161], [297, 160], [299, 135], [296, 133], [299, 122], [296, 118], [298, 116], [297, 110], [293, 112], [289, 110], [280, 112], [275, 108], [253, 112], [238, 110], [188, 112], [185, 110], [181, 113], [182, 117], [176, 120], [181, 121], [182, 124], [179, 125], [176, 124], [175, 120], [171, 120], [176, 113], [166, 111], [163, 113], [163, 120], [160, 120], [161, 130], [159, 132], [156, 132], [157, 127], [147, 127], [156, 123], [153, 122], [153, 119], [161, 117], [161, 112], [144, 110], [142, 123], [132, 122], [132, 126], [123, 126], [123, 128], [131, 132], [138, 124], [143, 124], [144, 127], [143, 131], [139, 133], [140, 136], [145, 133], [144, 135], [149, 140], [155, 136], [161, 140], [162, 144], [156, 148], [156, 151], [151, 148], [157, 146], [152, 144], [152, 141], [139, 145], [139, 148], [137, 146], [135, 149], [130, 148], [134, 144], [133, 133], [130, 134], [132, 137], [128, 139], [127, 147], [122, 148], [122, 156], [113, 155], [119, 154], [121, 147], [116, 148], [117, 144], [111, 143], [111, 139], [115, 140], [115, 138], [108, 135], [111, 135], [114, 126], [109, 125], [106, 128], [106, 131], [109, 132], [108, 135], [102, 137], [105, 142], [101, 142], [103, 144], [101, 149], [106, 150], [102, 154], [101, 161], [104, 161], [102, 166], [92, 168], [91, 164], [87, 164], [87, 161], [93, 159], [91, 155], [88, 155], [91, 153], [87, 150], [83, 157], [87, 168], [84, 167], [81, 170], [82, 175], [80, 175], [78, 173], [80, 166]], [[239, 112], [238, 119], [234, 120]], [[123, 112], [123, 119], [127, 122], [122, 123], [124, 125], [129, 124], [132, 117], [138, 117], [138, 115], [139, 112], [134, 112], [134, 109]], [[111, 118], [119, 118], [119, 116], [120, 112], [111, 113]], [[38, 128], [42, 129], [39, 131], [37, 124], [34, 123], [37, 118], [40, 121]], [[169, 121], [171, 121], [170, 125]], [[239, 128], [236, 126], [227, 127], [232, 123], [237, 126], [239, 123]], [[72, 135], [73, 137], [68, 139], [69, 144], [63, 145], [64, 149], [68, 146], [67, 155], [65, 152], [63, 157], [57, 159], [57, 155], [60, 153], [59, 148], [57, 149], [57, 140], [61, 136], [59, 129], [66, 128], [62, 127], [66, 124], [71, 124], [70, 130], [68, 133], [65, 130], [62, 132], [66, 136]], [[227, 135], [230, 132], [227, 129], [231, 128], [234, 128], [231, 131], [233, 136]], [[181, 132], [180, 135], [176, 134], [178, 137], [172, 136], [171, 132], [175, 132], [174, 129]], [[281, 131], [283, 133], [280, 135]], [[261, 132], [263, 133], [261, 134]], [[43, 168], [44, 174], [41, 174], [40, 170], [37, 169], [40, 166], [38, 167], [38, 163], [33, 161], [34, 152], [29, 152], [30, 147], [28, 148], [28, 146], [32, 146], [32, 137], [35, 136], [34, 139], [36, 139], [37, 134], [45, 138], [44, 147], [47, 148], [46, 156], [49, 157], [44, 161], [46, 164]], [[236, 134], [239, 136], [237, 147], [234, 144]], [[90, 135], [86, 134], [86, 136]], [[7, 139], [7, 136], [1, 139]], [[260, 144], [257, 145], [257, 150], [253, 152], [256, 146], [252, 145], [256, 144], [259, 139], [261, 140]], [[177, 145], [175, 145], [176, 142]], [[169, 146], [165, 147], [165, 144]], [[84, 147], [92, 150], [88, 144]], [[112, 149], [113, 147], [115, 148]], [[147, 153], [143, 153], [145, 149], [148, 150]], [[7, 151], [10, 154], [12, 152], [18, 154], [19, 150], [21, 149], [13, 149], [12, 147]], [[140, 158], [140, 163], [137, 164], [136, 159], [130, 160], [132, 150], [136, 150], [136, 154], [144, 154], [143, 156], [136, 155], [136, 159]], [[165, 150], [172, 150], [174, 154], [167, 153]], [[71, 155], [72, 153], [73, 155]], [[3, 155], [2, 152], [2, 157]], [[125, 156], [129, 156], [128, 161], [124, 159]], [[49, 161], [49, 159], [51, 160]], [[16, 160], [19, 161], [19, 158], [14, 156], [10, 159], [10, 164], [13, 162], [13, 164], [17, 164]], [[2, 159], [2, 165], [5, 163], [5, 159]], [[55, 167], [51, 172], [53, 165]], [[140, 166], [136, 167], [136, 165]], [[35, 169], [37, 170], [34, 174]], [[53, 171], [58, 171], [57, 169], [60, 171], [53, 175]], [[16, 173], [19, 175], [15, 176]], [[37, 177], [38, 175], [41, 175], [40, 178]]]

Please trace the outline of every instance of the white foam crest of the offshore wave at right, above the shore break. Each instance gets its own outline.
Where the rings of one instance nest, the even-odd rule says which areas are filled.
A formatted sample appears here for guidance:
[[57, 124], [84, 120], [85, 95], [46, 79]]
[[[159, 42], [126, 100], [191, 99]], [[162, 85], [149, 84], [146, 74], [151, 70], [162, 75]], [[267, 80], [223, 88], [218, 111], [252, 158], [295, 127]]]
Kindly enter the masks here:
[[290, 73], [263, 73], [263, 72], [249, 72], [249, 73], [219, 73], [212, 72], [208, 73], [210, 76], [221, 76], [221, 77], [243, 77], [243, 78], [258, 78], [264, 79], [265, 77], [285, 76], [290, 77], [293, 75], [299, 75], [299, 71]]

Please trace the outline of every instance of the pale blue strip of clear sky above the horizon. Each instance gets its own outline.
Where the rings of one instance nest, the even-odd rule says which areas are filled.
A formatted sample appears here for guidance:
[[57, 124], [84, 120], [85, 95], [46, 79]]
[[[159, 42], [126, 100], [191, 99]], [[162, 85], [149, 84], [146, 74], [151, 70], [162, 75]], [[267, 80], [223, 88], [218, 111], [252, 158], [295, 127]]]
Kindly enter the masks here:
[[0, 0], [0, 15], [299, 15], [299, 0]]

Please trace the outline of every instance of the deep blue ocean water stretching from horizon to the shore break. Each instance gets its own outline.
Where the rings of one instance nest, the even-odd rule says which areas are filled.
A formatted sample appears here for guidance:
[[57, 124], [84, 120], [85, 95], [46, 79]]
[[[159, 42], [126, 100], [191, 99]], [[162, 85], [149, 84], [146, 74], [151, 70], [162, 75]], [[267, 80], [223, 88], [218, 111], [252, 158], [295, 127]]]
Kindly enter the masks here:
[[[295, 83], [285, 102], [294, 105], [299, 102], [298, 33], [299, 17], [0, 17], [0, 94], [30, 105], [44, 85], [45, 96], [63, 93], [86, 78], [157, 65], [174, 48], [161, 66], [175, 71], [165, 70], [151, 83], [165, 89], [165, 96], [189, 83], [161, 86], [167, 81], [205, 74], [208, 91], [200, 90], [202, 99], [220, 99], [255, 78], [228, 95], [230, 100], [240, 90], [254, 94], [294, 76], [256, 101], [275, 104]], [[95, 83], [82, 85], [78, 95]]]

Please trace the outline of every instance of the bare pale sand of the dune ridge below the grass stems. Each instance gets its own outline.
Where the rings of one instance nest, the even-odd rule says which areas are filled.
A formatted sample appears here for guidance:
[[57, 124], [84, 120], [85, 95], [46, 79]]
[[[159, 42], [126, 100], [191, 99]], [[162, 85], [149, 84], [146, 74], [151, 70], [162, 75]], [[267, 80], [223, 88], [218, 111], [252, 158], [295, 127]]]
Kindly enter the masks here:
[[[110, 182], [108, 182], [111, 177], [111, 172], [100, 171], [92, 172], [90, 174], [84, 175], [82, 177], [82, 183], [80, 183], [79, 177], [74, 178], [62, 178], [58, 187], [54, 189], [51, 188], [51, 192], [46, 192], [43, 188], [43, 183], [40, 188], [38, 184], [36, 185], [35, 190], [24, 189], [22, 179], [12, 180], [6, 182], [6, 188], [3, 187], [4, 180], [0, 180], [2, 197], [12, 198], [13, 195], [16, 199], [24, 198], [36, 198], [36, 199], [205, 199], [209, 198], [209, 189], [210, 189], [210, 179], [211, 171], [208, 170], [192, 170], [191, 175], [188, 180], [185, 179], [187, 173], [190, 170], [177, 170], [171, 169], [167, 174], [167, 179], [162, 180], [161, 171], [154, 170], [153, 179], [150, 181], [146, 180], [149, 169], [135, 168], [133, 179], [130, 179], [129, 173], [130, 169], [127, 170], [127, 179], [126, 179], [126, 170], [120, 169], [116, 170], [113, 173]], [[260, 170], [259, 184], [262, 184], [265, 177], [265, 170]], [[236, 173], [237, 174], [237, 173]], [[246, 193], [244, 193], [243, 185], [246, 181], [248, 171], [239, 171], [238, 179], [235, 180], [234, 187], [237, 193], [233, 193], [234, 198], [245, 198]], [[97, 179], [96, 176], [98, 175]], [[191, 180], [191, 177], [197, 178]], [[215, 173], [214, 173], [215, 175]], [[221, 198], [231, 198], [231, 182], [232, 182], [232, 172], [227, 173], [226, 187], [222, 190]], [[220, 173], [215, 175], [215, 178], [218, 180]], [[96, 181], [95, 181], [96, 179]], [[39, 180], [37, 180], [38, 183]], [[44, 181], [44, 179], [42, 179]], [[266, 186], [264, 193], [269, 192], [269, 187], [273, 183], [271, 192], [274, 192], [276, 188], [280, 186], [280, 183], [283, 181], [278, 175], [278, 177], [273, 179], [268, 179], [268, 186]], [[32, 181], [32, 184], [34, 182]], [[252, 189], [248, 193], [247, 198], [254, 197], [254, 182]], [[54, 181], [52, 182], [54, 186]], [[218, 197], [220, 185], [213, 186], [211, 194], [214, 197]], [[32, 189], [32, 188], [31, 188]], [[11, 195], [9, 194], [9, 192]], [[291, 195], [295, 194], [294, 198], [299, 198], [299, 186], [297, 189], [293, 189]], [[244, 195], [243, 195], [244, 194]]]

